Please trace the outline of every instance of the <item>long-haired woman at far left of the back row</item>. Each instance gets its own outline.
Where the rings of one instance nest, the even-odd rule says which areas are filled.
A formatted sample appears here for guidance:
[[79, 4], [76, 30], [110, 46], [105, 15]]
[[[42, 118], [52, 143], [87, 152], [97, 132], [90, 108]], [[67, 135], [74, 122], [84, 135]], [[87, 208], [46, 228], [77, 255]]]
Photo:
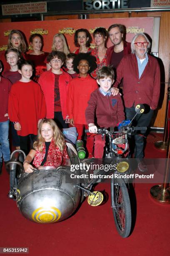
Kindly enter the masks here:
[[[19, 30], [10, 31], [10, 34], [8, 37], [8, 43], [7, 43], [7, 50], [11, 48], [17, 49], [24, 58], [24, 52], [26, 51], [27, 46], [24, 40], [23, 33], [21, 31]], [[0, 60], [3, 63], [3, 73], [5, 71], [10, 70], [10, 65], [6, 61], [5, 51], [2, 51], [0, 53]]]

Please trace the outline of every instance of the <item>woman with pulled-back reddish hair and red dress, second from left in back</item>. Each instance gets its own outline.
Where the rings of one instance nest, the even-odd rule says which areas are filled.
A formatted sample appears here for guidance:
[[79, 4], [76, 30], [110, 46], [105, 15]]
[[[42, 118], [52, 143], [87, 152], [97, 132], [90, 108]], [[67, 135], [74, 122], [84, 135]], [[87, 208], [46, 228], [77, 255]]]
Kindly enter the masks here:
[[40, 74], [47, 70], [46, 63], [44, 61], [48, 52], [42, 51], [43, 37], [40, 34], [32, 34], [29, 41], [32, 46], [32, 52], [30, 54], [25, 54], [25, 59], [33, 62], [35, 66], [33, 80], [38, 82]]

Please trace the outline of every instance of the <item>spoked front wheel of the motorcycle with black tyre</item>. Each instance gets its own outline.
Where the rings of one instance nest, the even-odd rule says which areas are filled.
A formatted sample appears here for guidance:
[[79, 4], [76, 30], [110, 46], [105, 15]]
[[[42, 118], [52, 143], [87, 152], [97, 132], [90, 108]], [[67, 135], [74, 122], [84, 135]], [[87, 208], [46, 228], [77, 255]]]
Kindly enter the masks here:
[[132, 216], [128, 189], [123, 179], [111, 180], [111, 204], [117, 231], [126, 238], [130, 234]]

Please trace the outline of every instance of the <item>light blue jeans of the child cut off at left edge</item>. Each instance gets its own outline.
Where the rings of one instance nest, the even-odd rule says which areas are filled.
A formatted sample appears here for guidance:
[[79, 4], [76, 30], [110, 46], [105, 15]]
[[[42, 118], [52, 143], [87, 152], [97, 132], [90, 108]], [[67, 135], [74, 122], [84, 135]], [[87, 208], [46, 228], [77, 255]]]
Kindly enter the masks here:
[[5, 162], [10, 160], [8, 131], [9, 120], [5, 122], [0, 122], [0, 162], [2, 161], [2, 156]]

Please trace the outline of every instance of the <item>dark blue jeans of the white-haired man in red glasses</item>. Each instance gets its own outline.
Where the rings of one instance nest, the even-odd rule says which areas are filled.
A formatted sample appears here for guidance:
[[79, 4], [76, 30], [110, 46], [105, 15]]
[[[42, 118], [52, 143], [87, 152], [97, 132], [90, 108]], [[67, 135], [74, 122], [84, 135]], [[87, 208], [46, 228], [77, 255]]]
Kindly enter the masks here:
[[[145, 108], [145, 111], [143, 114], [136, 115], [135, 119], [133, 120], [133, 126], [146, 126], [148, 127], [151, 121], [151, 118], [153, 116], [153, 110], [148, 108], [148, 110]], [[135, 108], [125, 108], [126, 113], [126, 119], [132, 120], [132, 118], [135, 116]], [[132, 144], [132, 141], [130, 142], [130, 153], [132, 153], [131, 149], [134, 149], [134, 156], [135, 158], [143, 158], [144, 156], [144, 139], [145, 139], [145, 133], [146, 131], [138, 131], [138, 133], [135, 134], [135, 149], [134, 144]], [[132, 140], [132, 138], [130, 139]], [[130, 154], [131, 156], [131, 154]]]

